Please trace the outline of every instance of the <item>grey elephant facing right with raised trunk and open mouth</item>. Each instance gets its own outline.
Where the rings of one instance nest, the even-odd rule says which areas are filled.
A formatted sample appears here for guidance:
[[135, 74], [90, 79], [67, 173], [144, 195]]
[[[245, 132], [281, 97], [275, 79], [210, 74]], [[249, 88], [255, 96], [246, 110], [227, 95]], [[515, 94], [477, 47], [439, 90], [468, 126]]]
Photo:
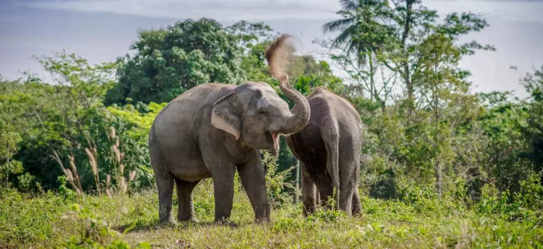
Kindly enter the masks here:
[[159, 223], [175, 223], [172, 214], [174, 183], [178, 221], [198, 222], [192, 192], [204, 178], [213, 179], [214, 223], [227, 221], [232, 210], [237, 169], [247, 192], [255, 222], [270, 221], [260, 150], [279, 151], [279, 136], [300, 131], [310, 107], [300, 92], [280, 78], [280, 88], [296, 107], [289, 110], [266, 82], [239, 85], [206, 83], [169, 102], [149, 131], [150, 161], [159, 194]]

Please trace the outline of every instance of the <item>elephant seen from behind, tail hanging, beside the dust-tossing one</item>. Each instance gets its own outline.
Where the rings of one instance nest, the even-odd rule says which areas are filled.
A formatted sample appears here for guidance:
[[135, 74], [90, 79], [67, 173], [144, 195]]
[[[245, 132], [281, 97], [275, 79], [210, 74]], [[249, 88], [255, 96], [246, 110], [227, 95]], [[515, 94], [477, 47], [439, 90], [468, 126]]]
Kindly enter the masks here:
[[358, 194], [362, 120], [348, 100], [326, 87], [315, 89], [307, 101], [309, 122], [300, 132], [285, 136], [300, 162], [303, 214], [314, 212], [318, 202], [325, 204], [335, 188], [336, 207], [356, 215], [362, 208]]

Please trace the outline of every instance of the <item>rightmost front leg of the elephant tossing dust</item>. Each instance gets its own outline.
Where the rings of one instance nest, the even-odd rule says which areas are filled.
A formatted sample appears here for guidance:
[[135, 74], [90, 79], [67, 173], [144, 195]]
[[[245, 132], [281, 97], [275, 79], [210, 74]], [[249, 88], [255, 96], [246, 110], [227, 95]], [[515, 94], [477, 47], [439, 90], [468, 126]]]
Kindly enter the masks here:
[[238, 165], [239, 178], [247, 192], [252, 209], [255, 212], [255, 222], [270, 221], [270, 205], [266, 193], [266, 173], [262, 167], [260, 152], [251, 152], [246, 163]]

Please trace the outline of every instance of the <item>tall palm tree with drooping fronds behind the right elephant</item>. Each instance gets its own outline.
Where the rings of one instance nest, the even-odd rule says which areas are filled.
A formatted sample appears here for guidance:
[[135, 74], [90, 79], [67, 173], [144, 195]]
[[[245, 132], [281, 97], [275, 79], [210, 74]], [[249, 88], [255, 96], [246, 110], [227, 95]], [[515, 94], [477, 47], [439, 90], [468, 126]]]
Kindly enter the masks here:
[[377, 101], [384, 112], [395, 84], [394, 72], [386, 72], [381, 61], [384, 49], [394, 44], [390, 40], [393, 27], [387, 24], [393, 18], [392, 9], [388, 1], [380, 0], [342, 0], [340, 3], [342, 10], [338, 14], [342, 19], [323, 25], [324, 33], [340, 31], [340, 34], [332, 41], [314, 42], [339, 50], [339, 54], [333, 53], [331, 58], [356, 83], [353, 90]]

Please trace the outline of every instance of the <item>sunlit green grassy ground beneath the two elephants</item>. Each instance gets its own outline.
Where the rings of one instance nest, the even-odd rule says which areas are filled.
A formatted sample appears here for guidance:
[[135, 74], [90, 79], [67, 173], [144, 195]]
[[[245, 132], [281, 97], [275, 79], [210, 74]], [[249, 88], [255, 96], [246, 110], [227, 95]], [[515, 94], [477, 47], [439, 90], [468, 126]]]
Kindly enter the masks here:
[[[87, 244], [108, 244], [111, 236], [89, 225], [102, 226], [99, 219], [121, 232], [132, 227], [122, 240], [132, 247], [148, 241], [140, 244], [147, 248], [543, 248], [541, 216], [493, 214], [494, 206], [488, 208], [492, 212], [485, 213], [481, 208], [465, 209], [431, 199], [406, 204], [362, 197], [363, 214], [356, 218], [318, 210], [304, 219], [301, 206], [290, 204], [276, 207], [270, 224], [254, 225], [254, 213], [240, 190], [235, 194], [231, 218], [239, 227], [219, 227], [211, 225], [210, 183], [200, 184], [195, 193], [200, 224], [175, 227], [155, 225], [155, 191], [113, 198], [6, 195], [0, 200], [0, 248], [78, 248], [74, 241], [81, 238], [86, 238]], [[73, 203], [86, 208], [79, 212], [79, 219], [66, 213]]]

